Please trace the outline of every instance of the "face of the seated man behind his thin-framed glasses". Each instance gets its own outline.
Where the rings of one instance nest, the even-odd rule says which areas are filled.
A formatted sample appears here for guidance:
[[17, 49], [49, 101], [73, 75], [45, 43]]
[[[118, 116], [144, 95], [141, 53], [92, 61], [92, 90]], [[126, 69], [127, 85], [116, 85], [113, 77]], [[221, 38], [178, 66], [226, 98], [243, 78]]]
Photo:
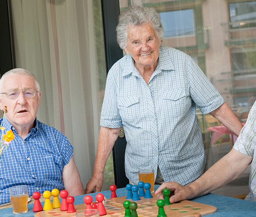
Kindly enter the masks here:
[[[4, 78], [1, 93], [7, 92], [12, 89], [36, 89], [36, 83], [32, 77], [26, 75], [12, 74]], [[1, 94], [0, 109], [4, 110], [7, 106], [7, 113], [5, 117], [7, 120], [16, 127], [33, 127], [36, 113], [40, 105], [41, 92], [36, 93], [32, 98], [24, 97], [20, 92], [16, 99], [9, 99], [6, 94]]]

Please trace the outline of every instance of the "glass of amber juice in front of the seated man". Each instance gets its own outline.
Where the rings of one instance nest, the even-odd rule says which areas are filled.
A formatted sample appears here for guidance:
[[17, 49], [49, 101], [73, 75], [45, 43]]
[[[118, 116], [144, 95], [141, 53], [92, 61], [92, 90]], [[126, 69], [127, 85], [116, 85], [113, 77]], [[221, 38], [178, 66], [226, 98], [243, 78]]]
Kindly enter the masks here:
[[10, 188], [13, 213], [28, 212], [28, 188], [27, 186], [13, 186]]

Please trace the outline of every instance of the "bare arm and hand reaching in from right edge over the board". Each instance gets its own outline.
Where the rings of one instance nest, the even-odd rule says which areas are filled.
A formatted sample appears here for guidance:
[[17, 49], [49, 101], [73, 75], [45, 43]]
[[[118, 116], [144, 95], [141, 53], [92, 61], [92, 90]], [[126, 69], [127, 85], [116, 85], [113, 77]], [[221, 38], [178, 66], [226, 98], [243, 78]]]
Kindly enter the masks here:
[[156, 190], [155, 194], [159, 194], [159, 197], [163, 199], [162, 191], [165, 188], [170, 189], [171, 203], [195, 198], [216, 190], [236, 179], [251, 162], [251, 156], [244, 155], [232, 148], [227, 155], [188, 186], [182, 186], [177, 182], [165, 182]]

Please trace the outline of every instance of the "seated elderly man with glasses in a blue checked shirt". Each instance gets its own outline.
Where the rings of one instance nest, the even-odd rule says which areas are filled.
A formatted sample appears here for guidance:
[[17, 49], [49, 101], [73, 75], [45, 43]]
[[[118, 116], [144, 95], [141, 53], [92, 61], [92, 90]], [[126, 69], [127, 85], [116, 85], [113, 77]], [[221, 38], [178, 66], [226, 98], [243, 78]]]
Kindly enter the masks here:
[[0, 124], [15, 138], [0, 156], [0, 204], [10, 202], [10, 187], [28, 186], [28, 194], [67, 190], [84, 194], [84, 187], [67, 137], [36, 119], [40, 85], [27, 70], [13, 69], [0, 79], [0, 109], [7, 107]]

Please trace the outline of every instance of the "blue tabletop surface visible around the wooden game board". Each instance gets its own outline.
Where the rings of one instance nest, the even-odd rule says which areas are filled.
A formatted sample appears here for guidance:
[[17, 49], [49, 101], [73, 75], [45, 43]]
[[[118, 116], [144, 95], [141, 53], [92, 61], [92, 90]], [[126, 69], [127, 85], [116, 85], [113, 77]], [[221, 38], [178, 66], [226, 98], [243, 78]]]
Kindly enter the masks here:
[[[159, 186], [155, 186], [157, 189]], [[111, 191], [102, 191], [106, 198], [111, 197]], [[93, 201], [97, 193], [92, 193]], [[117, 197], [127, 195], [125, 188], [116, 190]], [[199, 198], [192, 199], [191, 201], [213, 205], [217, 207], [217, 212], [207, 215], [207, 217], [256, 217], [256, 202], [245, 201], [238, 198], [230, 198], [217, 194], [207, 194]], [[84, 203], [84, 195], [76, 196], [74, 205]], [[42, 203], [44, 206], [44, 203]], [[13, 214], [12, 208], [0, 209], [0, 217], [33, 217], [34, 212], [32, 211], [33, 204], [28, 205], [28, 213]]]

